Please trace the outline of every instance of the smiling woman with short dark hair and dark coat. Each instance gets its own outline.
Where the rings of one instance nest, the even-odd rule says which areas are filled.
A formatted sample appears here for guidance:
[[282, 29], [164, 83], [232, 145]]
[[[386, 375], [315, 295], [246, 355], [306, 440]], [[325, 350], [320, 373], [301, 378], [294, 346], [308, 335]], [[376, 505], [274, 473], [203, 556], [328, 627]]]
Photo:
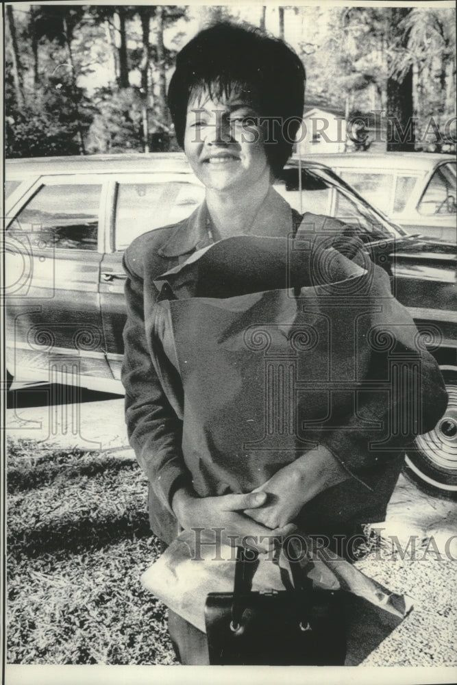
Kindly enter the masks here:
[[[285, 238], [297, 231], [301, 217], [272, 182], [292, 151], [304, 82], [297, 55], [257, 29], [214, 25], [177, 55], [169, 107], [177, 140], [206, 188], [206, 199], [185, 221], [134, 240], [124, 259], [127, 429], [149, 479], [151, 528], [165, 544], [180, 528], [220, 527], [227, 535], [259, 540], [286, 533], [297, 521], [307, 532], [350, 536], [356, 524], [383, 519], [402, 467], [402, 447], [413, 437], [402, 436], [380, 457], [368, 447], [372, 436], [356, 427], [336, 432], [332, 442], [289, 456], [286, 463], [262, 464], [262, 469], [247, 464], [243, 482], [231, 464], [203, 460], [183, 448], [186, 408], [180, 375], [169, 363], [173, 345], [158, 321], [163, 295], [158, 277], [219, 240]], [[423, 407], [425, 431], [443, 413], [445, 392], [427, 353], [423, 373], [431, 400]], [[369, 404], [371, 416], [388, 414], [385, 398]], [[195, 425], [196, 433], [199, 429]], [[182, 662], [206, 662], [203, 634], [172, 613], [169, 627]]]

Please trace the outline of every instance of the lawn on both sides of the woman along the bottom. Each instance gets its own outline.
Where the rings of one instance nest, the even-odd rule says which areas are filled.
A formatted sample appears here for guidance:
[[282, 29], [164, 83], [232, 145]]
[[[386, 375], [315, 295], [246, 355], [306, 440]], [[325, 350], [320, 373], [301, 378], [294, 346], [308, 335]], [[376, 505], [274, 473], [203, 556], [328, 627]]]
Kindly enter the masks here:
[[[7, 662], [176, 664], [166, 607], [140, 585], [159, 549], [134, 458], [16, 440], [7, 484]], [[363, 547], [360, 570], [415, 604], [363, 665], [455, 666], [457, 557]]]

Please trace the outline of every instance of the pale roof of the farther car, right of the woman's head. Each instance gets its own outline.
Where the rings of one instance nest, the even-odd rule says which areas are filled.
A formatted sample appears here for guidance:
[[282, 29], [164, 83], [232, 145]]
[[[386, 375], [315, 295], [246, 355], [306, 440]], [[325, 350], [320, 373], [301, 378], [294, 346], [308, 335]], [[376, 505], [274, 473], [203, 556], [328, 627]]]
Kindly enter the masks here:
[[[316, 157], [316, 161], [330, 166], [331, 169], [338, 166], [348, 166], [363, 170], [369, 167], [378, 169], [412, 169], [417, 171], [430, 171], [441, 162], [455, 162], [455, 155], [442, 155], [430, 152], [356, 152], [356, 153], [314, 153], [307, 155], [306, 161]], [[293, 155], [297, 160], [298, 155]]]

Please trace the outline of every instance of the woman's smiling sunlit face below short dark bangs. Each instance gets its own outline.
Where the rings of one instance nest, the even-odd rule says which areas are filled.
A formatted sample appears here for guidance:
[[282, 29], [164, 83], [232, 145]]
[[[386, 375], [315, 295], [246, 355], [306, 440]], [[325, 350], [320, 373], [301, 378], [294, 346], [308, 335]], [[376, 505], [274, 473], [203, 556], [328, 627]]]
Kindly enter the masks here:
[[257, 117], [240, 90], [218, 101], [205, 93], [189, 100], [184, 151], [207, 189], [238, 195], [268, 187], [270, 168]]

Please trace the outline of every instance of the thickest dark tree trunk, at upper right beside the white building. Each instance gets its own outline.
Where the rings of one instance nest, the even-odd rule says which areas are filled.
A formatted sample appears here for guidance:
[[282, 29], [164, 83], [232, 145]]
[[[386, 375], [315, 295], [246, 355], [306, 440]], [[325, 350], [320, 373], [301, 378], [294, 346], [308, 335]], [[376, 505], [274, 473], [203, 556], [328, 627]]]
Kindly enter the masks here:
[[[391, 8], [391, 32], [397, 50], [408, 49], [408, 35], [399, 23], [410, 8]], [[390, 70], [389, 70], [390, 73]], [[402, 80], [395, 74], [387, 79], [387, 151], [406, 152], [415, 149], [415, 121], [412, 101], [412, 66]]]

